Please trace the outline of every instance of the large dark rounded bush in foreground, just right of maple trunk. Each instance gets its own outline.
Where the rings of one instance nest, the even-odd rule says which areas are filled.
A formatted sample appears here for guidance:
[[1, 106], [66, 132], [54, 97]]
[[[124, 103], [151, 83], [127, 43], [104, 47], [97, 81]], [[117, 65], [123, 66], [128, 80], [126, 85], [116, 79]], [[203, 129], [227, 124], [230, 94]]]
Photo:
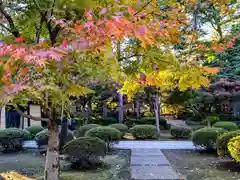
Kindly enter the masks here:
[[72, 168], [95, 167], [106, 152], [105, 142], [97, 137], [79, 137], [63, 147]]

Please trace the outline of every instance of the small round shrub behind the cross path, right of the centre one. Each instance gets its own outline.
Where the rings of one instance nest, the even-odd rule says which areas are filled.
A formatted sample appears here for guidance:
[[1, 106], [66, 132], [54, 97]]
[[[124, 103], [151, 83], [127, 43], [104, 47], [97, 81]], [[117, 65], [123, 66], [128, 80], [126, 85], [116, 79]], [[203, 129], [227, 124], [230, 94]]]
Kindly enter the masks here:
[[172, 126], [170, 130], [171, 135], [178, 139], [189, 139], [191, 137], [191, 129], [183, 126]]

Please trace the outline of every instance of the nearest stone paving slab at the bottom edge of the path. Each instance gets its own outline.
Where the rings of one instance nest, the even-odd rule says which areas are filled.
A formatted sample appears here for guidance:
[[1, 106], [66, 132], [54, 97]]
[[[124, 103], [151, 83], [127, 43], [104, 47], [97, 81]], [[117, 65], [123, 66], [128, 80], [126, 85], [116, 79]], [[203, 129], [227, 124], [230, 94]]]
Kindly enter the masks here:
[[132, 166], [132, 180], [180, 180], [171, 166]]

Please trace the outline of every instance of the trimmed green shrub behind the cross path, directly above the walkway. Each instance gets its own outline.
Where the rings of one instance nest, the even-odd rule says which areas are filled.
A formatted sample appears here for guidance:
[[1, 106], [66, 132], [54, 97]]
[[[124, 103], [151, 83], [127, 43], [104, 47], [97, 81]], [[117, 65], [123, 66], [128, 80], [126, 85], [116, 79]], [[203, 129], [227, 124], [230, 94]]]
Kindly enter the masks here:
[[130, 132], [137, 139], [157, 138], [157, 127], [153, 125], [136, 125], [130, 129]]

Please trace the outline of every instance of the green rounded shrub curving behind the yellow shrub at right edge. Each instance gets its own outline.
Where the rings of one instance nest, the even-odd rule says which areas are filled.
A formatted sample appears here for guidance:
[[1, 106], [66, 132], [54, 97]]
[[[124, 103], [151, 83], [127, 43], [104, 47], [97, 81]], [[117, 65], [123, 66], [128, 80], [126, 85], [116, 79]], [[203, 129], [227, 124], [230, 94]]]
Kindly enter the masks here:
[[240, 136], [240, 130], [224, 133], [217, 138], [216, 148], [219, 156], [230, 156], [228, 142], [236, 136]]

